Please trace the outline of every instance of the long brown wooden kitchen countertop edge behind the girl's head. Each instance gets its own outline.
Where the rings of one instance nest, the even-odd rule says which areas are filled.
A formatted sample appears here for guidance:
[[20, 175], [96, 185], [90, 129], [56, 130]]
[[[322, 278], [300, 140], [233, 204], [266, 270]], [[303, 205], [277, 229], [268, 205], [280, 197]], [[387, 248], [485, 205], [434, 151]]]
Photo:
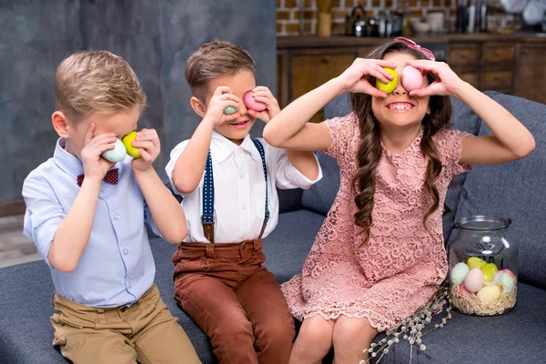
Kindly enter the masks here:
[[[358, 37], [349, 35], [287, 35], [277, 37], [277, 48], [323, 48], [378, 45], [393, 38]], [[450, 34], [450, 35], [418, 35], [411, 37], [418, 44], [431, 43], [464, 43], [464, 42], [518, 42], [546, 43], [546, 33], [513, 33], [513, 34]]]

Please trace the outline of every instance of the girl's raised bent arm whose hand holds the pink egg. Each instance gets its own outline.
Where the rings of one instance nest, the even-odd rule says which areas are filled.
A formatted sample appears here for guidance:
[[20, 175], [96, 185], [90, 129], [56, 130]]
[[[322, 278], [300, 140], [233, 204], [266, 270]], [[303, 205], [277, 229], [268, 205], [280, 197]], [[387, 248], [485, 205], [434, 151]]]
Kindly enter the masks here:
[[489, 126], [492, 136], [469, 136], [462, 140], [460, 163], [494, 165], [527, 156], [535, 147], [529, 130], [511, 113], [489, 96], [462, 81], [450, 66], [426, 60], [412, 61], [410, 66], [433, 72], [439, 80], [426, 88], [411, 91], [412, 96], [450, 95], [469, 106]]

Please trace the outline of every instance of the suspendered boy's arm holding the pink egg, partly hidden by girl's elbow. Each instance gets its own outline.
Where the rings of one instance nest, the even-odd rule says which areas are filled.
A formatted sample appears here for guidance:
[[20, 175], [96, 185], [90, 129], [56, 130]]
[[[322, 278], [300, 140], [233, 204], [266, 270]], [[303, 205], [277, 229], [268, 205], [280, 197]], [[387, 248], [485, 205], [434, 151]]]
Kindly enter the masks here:
[[[248, 114], [259, 118], [265, 123], [268, 123], [269, 120], [278, 115], [280, 112], [278, 101], [271, 94], [268, 87], [258, 86], [252, 90], [252, 95], [256, 101], [266, 104], [267, 108], [261, 112], [248, 109]], [[313, 181], [319, 177], [319, 163], [313, 153], [298, 150], [287, 150], [286, 153], [290, 164], [298, 169], [299, 173], [303, 176]]]

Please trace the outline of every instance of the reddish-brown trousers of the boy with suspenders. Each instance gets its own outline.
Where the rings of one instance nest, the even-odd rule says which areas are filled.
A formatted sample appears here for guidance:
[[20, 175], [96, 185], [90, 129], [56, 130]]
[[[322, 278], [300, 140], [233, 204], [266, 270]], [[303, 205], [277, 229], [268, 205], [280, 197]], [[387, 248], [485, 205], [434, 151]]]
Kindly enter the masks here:
[[173, 256], [178, 305], [220, 363], [288, 363], [294, 320], [265, 261], [261, 239], [182, 243]]

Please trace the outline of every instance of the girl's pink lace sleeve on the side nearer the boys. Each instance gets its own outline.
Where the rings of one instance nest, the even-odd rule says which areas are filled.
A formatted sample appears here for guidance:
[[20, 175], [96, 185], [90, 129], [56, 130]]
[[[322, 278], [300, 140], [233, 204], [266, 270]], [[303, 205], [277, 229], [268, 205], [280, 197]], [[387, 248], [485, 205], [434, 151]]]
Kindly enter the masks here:
[[324, 121], [329, 128], [332, 144], [328, 149], [322, 150], [322, 153], [338, 159], [344, 159], [349, 151], [349, 142], [359, 134], [359, 122], [354, 113], [346, 116], [332, 117]]

